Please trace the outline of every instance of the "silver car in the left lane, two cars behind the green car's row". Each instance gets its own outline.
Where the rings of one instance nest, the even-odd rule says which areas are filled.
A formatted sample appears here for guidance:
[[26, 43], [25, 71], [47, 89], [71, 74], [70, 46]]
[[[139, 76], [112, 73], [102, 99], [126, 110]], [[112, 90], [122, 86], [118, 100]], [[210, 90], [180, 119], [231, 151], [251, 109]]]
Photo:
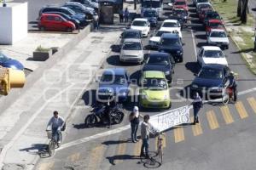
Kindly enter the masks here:
[[143, 56], [143, 43], [141, 39], [125, 39], [120, 51], [119, 59], [121, 62], [135, 62], [142, 64]]

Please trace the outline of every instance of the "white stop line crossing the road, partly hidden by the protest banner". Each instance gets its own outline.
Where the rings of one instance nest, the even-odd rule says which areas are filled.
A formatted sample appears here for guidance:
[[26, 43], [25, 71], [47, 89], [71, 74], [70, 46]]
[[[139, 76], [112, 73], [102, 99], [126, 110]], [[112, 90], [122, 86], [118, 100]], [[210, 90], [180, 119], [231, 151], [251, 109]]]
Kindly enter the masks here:
[[[249, 94], [249, 93], [254, 92], [254, 91], [256, 91], [256, 88], [251, 88], [251, 89], [239, 92], [238, 95]], [[207, 102], [204, 102], [204, 103], [207, 103]], [[189, 109], [192, 109], [192, 108], [193, 108], [193, 106], [189, 105]], [[160, 114], [165, 114], [165, 113], [168, 113], [168, 112], [170, 112], [170, 111], [164, 111], [164, 112], [161, 112], [161, 113], [156, 114], [154, 116], [158, 116]], [[75, 146], [75, 145], [78, 145], [78, 144], [83, 144], [83, 143], [89, 142], [90, 140], [93, 140], [93, 139], [99, 139], [99, 138], [102, 138], [102, 137], [105, 137], [105, 136], [108, 136], [108, 135], [112, 135], [112, 134], [115, 134], [115, 133], [121, 133], [121, 132], [123, 132], [123, 131], [125, 131], [129, 128], [130, 128], [130, 125], [125, 125], [124, 127], [115, 128], [113, 130], [109, 130], [109, 131], [104, 132], [104, 133], [97, 133], [95, 135], [85, 137], [83, 139], [78, 139], [78, 140], [74, 140], [74, 141], [66, 143], [66, 144], [61, 144], [61, 148], [57, 149], [56, 151], [67, 149], [69, 147], [72, 147], [72, 146]]]

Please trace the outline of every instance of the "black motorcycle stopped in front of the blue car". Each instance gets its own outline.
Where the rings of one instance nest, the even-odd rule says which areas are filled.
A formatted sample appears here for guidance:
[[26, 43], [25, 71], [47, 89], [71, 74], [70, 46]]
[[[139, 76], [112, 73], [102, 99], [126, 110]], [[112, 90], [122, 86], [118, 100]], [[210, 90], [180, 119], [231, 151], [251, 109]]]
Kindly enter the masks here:
[[97, 123], [107, 124], [109, 122], [108, 111], [110, 114], [110, 123], [119, 124], [123, 121], [125, 114], [121, 111], [122, 105], [93, 105], [91, 114], [86, 116], [84, 123], [86, 127], [94, 127]]

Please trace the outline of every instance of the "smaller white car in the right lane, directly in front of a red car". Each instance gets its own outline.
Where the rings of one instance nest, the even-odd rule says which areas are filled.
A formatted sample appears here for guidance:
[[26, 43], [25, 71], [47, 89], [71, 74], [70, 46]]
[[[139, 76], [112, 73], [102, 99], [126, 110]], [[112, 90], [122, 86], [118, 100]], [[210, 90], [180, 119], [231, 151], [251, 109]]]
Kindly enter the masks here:
[[210, 45], [216, 45], [222, 49], [228, 49], [230, 45], [229, 37], [226, 32], [221, 29], [212, 29], [207, 37], [207, 42]]

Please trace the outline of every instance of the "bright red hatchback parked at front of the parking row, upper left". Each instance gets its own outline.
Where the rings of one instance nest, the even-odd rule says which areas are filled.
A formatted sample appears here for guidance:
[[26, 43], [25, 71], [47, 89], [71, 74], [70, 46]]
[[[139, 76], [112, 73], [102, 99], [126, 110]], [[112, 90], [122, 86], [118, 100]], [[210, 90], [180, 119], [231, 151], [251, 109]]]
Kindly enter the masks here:
[[64, 19], [60, 14], [42, 14], [38, 22], [40, 31], [74, 31], [73, 22]]

